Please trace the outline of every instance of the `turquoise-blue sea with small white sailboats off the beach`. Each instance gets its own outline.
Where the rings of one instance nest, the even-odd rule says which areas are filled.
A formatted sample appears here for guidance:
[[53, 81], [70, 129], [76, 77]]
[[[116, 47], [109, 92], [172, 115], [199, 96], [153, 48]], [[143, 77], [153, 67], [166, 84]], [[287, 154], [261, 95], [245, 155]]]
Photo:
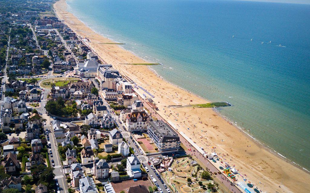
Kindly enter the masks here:
[[[69, 11], [169, 82], [309, 169], [310, 5], [185, 0], [67, 0]], [[252, 41], [251, 41], [252, 39]], [[271, 42], [270, 42], [271, 41]], [[263, 42], [263, 44], [262, 44]], [[281, 44], [281, 46], [279, 46]]]

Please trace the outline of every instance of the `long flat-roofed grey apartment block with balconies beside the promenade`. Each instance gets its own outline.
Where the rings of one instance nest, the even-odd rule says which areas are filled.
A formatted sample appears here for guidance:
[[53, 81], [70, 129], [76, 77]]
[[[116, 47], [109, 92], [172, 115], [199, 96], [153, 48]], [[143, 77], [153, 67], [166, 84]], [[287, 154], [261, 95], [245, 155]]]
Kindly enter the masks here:
[[177, 152], [180, 146], [178, 134], [161, 120], [151, 121], [148, 135], [154, 141], [160, 153]]

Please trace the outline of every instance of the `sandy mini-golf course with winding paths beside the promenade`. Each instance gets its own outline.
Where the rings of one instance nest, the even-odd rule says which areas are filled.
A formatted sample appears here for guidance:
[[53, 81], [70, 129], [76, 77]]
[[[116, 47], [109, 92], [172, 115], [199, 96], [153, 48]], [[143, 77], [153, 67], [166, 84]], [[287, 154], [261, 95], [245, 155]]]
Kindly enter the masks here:
[[179, 193], [210, 192], [207, 187], [213, 181], [201, 178], [202, 172], [197, 162], [190, 157], [183, 157], [174, 160], [169, 170], [162, 172], [162, 177], [172, 192], [175, 189]]

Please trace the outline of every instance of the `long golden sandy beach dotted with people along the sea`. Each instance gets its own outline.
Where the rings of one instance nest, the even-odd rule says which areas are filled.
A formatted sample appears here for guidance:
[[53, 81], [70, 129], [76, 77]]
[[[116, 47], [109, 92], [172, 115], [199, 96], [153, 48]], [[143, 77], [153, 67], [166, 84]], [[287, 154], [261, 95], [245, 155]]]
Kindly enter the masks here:
[[159, 108], [157, 112], [206, 152], [215, 150], [225, 162], [236, 165], [236, 169], [263, 192], [310, 191], [308, 172], [259, 145], [211, 108], [169, 108], [170, 105], [201, 104], [208, 101], [166, 82], [145, 65], [130, 65], [149, 62], [117, 44], [106, 44], [114, 42], [95, 33], [69, 13], [65, 0], [56, 2], [54, 8], [59, 19], [78, 36], [89, 39], [88, 45], [104, 62], [112, 64], [122, 75], [153, 94], [153, 100]]

